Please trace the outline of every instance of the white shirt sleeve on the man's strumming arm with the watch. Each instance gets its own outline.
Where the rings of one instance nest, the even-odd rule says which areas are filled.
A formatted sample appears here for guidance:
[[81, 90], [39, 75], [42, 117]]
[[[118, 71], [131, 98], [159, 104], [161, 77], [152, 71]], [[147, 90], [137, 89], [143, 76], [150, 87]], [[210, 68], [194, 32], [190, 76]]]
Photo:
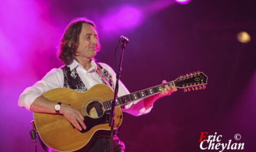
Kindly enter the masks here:
[[63, 87], [64, 76], [62, 69], [52, 69], [42, 80], [37, 81], [32, 87], [26, 88], [20, 95], [18, 106], [24, 107], [30, 111], [31, 104], [35, 99], [45, 92]]

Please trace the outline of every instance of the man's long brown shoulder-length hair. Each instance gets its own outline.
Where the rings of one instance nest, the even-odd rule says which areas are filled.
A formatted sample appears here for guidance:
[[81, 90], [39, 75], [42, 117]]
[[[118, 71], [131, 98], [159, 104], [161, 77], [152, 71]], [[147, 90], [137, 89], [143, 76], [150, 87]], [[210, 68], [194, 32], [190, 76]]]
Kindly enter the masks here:
[[75, 51], [79, 45], [79, 34], [81, 33], [83, 23], [90, 24], [96, 29], [93, 21], [90, 21], [85, 17], [75, 18], [70, 22], [70, 24], [68, 24], [60, 40], [58, 57], [66, 65], [71, 64], [75, 59]]

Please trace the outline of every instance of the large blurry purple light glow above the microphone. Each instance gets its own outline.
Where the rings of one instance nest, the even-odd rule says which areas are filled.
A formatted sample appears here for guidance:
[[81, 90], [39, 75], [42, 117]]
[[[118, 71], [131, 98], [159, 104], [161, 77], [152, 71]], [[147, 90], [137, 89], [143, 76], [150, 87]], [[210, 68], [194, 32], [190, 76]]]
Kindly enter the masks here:
[[[118, 8], [118, 7], [117, 7]], [[112, 10], [115, 10], [114, 8]], [[142, 13], [132, 6], [123, 6], [117, 11], [111, 11], [103, 17], [101, 24], [105, 32], [132, 28], [140, 24]]]

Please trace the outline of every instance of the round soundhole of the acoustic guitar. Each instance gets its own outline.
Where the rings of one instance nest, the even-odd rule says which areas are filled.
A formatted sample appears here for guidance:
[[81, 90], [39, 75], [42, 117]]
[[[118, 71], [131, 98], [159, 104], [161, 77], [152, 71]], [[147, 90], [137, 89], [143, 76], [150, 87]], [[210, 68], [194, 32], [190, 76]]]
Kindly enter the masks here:
[[102, 104], [98, 101], [93, 101], [87, 104], [87, 107], [86, 107], [87, 115], [90, 116], [90, 118], [101, 117], [104, 114], [102, 107], [103, 107]]

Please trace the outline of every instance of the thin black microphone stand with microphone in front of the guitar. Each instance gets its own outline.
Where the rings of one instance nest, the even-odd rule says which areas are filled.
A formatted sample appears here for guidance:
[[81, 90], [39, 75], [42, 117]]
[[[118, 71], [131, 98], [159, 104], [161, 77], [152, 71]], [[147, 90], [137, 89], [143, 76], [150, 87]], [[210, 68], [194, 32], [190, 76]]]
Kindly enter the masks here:
[[124, 49], [126, 47], [126, 44], [128, 44], [129, 40], [128, 38], [121, 36], [120, 37], [122, 45], [121, 45], [121, 57], [120, 57], [120, 63], [119, 63], [119, 71], [116, 73], [116, 87], [114, 88], [114, 97], [112, 100], [111, 104], [111, 111], [110, 111], [110, 118], [109, 118], [109, 126], [111, 126], [111, 134], [110, 134], [110, 140], [109, 140], [109, 151], [113, 151], [113, 132], [114, 132], [114, 108], [116, 107], [116, 97], [117, 97], [117, 92], [119, 90], [119, 79], [121, 75], [121, 65], [123, 61], [123, 54], [124, 54]]

